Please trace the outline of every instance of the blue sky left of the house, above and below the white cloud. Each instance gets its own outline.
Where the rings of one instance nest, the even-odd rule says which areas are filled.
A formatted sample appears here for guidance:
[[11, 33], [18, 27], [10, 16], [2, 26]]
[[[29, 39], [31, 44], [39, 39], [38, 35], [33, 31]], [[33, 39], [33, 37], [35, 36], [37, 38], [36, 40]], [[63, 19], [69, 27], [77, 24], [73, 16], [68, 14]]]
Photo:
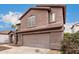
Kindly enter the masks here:
[[15, 13], [24, 13], [28, 10], [30, 7], [34, 7], [33, 4], [1, 4], [0, 5], [0, 31], [2, 30], [14, 30], [11, 27], [10, 22], [4, 22], [1, 15], [9, 15], [9, 12]]

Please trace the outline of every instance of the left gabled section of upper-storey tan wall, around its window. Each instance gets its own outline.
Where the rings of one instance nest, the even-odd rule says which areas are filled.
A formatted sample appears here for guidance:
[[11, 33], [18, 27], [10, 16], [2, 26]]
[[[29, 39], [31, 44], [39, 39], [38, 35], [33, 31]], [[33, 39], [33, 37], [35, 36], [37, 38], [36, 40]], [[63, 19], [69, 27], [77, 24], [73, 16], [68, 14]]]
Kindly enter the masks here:
[[[35, 26], [42, 26], [48, 24], [48, 11], [47, 10], [31, 10], [21, 20], [20, 30], [29, 29], [27, 25], [28, 18], [35, 16]], [[34, 28], [32, 27], [32, 28]]]

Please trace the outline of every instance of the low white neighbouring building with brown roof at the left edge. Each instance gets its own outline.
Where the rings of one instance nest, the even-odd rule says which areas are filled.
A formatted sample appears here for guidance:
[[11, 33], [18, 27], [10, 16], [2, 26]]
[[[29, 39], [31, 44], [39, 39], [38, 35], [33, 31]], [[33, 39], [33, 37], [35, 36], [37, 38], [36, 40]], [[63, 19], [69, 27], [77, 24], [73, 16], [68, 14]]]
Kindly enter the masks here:
[[10, 40], [9, 40], [9, 33], [11, 31], [0, 31], [0, 43], [9, 43]]

